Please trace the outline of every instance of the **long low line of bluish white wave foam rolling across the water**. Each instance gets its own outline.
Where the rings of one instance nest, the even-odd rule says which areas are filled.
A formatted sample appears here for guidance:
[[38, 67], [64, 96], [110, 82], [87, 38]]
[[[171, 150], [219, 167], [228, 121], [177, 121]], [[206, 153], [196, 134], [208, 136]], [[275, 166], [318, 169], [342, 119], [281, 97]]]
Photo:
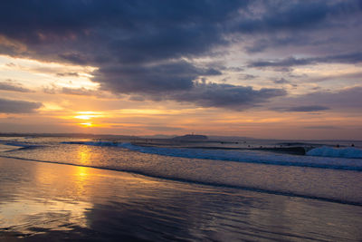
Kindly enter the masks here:
[[[362, 171], [362, 162], [356, 159], [340, 159], [329, 157], [295, 156], [288, 154], [275, 154], [255, 150], [208, 150], [188, 148], [163, 148], [138, 146], [132, 143], [111, 141], [71, 141], [65, 144], [81, 144], [91, 146], [119, 147], [146, 154], [155, 154], [169, 157], [203, 160], [225, 160], [245, 163], [261, 163], [279, 166], [312, 167], [322, 169], [349, 169]], [[357, 149], [356, 149], [357, 150]], [[310, 150], [311, 151], [311, 150]]]

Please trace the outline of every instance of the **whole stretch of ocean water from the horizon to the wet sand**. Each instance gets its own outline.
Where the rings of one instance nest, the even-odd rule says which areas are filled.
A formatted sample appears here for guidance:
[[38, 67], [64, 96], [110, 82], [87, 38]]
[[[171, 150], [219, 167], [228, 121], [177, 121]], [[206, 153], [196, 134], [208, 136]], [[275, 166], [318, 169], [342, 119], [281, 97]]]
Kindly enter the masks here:
[[[354, 147], [348, 146], [352, 143]], [[175, 143], [6, 137], [0, 145], [0, 156], [7, 158], [113, 169], [161, 179], [362, 205], [362, 142], [358, 141]], [[278, 150], [296, 147], [305, 149], [305, 155]]]

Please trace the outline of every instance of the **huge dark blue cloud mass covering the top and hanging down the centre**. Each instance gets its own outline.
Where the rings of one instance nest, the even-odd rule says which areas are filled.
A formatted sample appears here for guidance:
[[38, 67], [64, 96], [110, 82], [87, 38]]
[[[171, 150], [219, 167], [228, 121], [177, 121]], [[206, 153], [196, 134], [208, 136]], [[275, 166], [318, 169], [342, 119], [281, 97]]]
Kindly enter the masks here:
[[[243, 34], [286, 36], [254, 44], [300, 44], [306, 32], [343, 28], [360, 18], [360, 1], [72, 1], [14, 0], [0, 4], [0, 53], [98, 67], [102, 90], [243, 110], [285, 94], [279, 89], [195, 84], [227, 71], [195, 63]], [[255, 11], [256, 9], [256, 11]], [[259, 11], [260, 10], [260, 11]], [[358, 23], [358, 22], [357, 22]], [[312, 40], [309, 40], [310, 43]], [[359, 48], [359, 47], [358, 47]], [[356, 49], [357, 50], [357, 49]], [[327, 57], [267, 60], [250, 67], [360, 62], [360, 52]], [[187, 60], [187, 61], [185, 61]]]

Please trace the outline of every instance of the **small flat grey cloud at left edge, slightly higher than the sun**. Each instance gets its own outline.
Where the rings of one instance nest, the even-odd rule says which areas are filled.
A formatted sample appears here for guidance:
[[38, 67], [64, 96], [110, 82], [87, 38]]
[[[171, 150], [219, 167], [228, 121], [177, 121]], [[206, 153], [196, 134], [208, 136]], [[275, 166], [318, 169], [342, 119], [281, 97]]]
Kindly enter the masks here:
[[29, 113], [42, 107], [40, 102], [0, 99], [0, 113]]

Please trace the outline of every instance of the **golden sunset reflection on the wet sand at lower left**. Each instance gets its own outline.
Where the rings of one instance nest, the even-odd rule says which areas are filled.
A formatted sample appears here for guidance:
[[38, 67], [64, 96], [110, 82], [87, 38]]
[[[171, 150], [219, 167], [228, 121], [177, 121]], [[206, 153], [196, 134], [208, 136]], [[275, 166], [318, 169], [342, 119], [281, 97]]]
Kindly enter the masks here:
[[[80, 156], [85, 162], [87, 152], [82, 150]], [[108, 187], [110, 183], [104, 181], [123, 177], [122, 184], [129, 189], [132, 184], [142, 184], [140, 189], [145, 189], [147, 184], [154, 183], [109, 170], [5, 158], [0, 161], [0, 168], [6, 170], [0, 176], [0, 240], [6, 234], [28, 237], [87, 227], [87, 211], [93, 208], [93, 202], [107, 201], [113, 192]], [[15, 173], [9, 173], [10, 170]], [[13, 176], [11, 180], [6, 178]], [[118, 190], [117, 197], [126, 199], [128, 193], [121, 191]]]

